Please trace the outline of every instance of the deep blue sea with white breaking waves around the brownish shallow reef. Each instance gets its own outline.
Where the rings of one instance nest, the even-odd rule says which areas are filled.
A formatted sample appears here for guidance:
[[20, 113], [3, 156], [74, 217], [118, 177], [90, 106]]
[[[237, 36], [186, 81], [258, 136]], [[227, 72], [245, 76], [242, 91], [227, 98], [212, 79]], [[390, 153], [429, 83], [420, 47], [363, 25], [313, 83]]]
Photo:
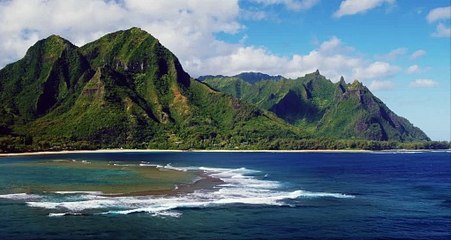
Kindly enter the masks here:
[[[159, 199], [157, 205], [152, 199], [138, 199], [100, 209], [88, 207], [98, 203], [95, 197], [91, 202], [91, 195], [11, 197], [12, 187], [64, 181], [45, 174], [45, 169], [15, 165], [52, 159], [203, 166], [238, 185], [206, 193], [211, 199], [181, 196]], [[8, 157], [0, 158], [0, 195], [0, 239], [451, 239], [449, 151]], [[80, 201], [82, 209], [48, 207], [64, 201]], [[156, 206], [173, 207], [159, 212]], [[49, 216], [65, 212], [81, 215]]]

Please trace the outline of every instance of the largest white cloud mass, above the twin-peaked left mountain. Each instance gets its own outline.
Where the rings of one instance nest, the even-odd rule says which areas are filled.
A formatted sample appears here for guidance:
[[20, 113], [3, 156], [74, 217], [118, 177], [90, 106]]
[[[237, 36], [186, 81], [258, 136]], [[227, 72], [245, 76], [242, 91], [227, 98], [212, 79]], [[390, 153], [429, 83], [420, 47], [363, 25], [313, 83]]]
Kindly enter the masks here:
[[238, 0], [0, 2], [0, 66], [17, 60], [36, 40], [54, 33], [83, 45], [132, 26], [152, 33], [181, 59], [222, 54], [234, 46], [216, 40], [214, 34], [238, 32], [243, 27], [239, 10]]

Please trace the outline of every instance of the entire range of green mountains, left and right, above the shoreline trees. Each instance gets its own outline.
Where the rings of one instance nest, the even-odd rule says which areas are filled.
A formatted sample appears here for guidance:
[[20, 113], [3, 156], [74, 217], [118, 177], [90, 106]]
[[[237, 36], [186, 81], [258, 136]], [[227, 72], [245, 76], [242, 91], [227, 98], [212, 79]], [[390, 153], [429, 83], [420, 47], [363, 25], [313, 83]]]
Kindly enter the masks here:
[[0, 131], [50, 145], [183, 149], [247, 147], [243, 139], [265, 148], [301, 137], [428, 139], [357, 80], [334, 84], [319, 70], [283, 79], [244, 72], [199, 83], [137, 27], [80, 48], [51, 35], [0, 70]]

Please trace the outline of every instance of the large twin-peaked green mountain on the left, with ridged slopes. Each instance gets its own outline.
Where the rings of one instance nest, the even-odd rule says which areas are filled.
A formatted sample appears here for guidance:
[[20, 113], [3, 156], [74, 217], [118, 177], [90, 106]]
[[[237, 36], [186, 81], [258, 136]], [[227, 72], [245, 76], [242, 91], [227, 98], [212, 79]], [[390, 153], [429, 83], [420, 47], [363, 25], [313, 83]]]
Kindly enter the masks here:
[[80, 48], [43, 39], [0, 70], [0, 90], [0, 134], [25, 136], [36, 149], [264, 148], [302, 137], [274, 114], [192, 79], [138, 28]]

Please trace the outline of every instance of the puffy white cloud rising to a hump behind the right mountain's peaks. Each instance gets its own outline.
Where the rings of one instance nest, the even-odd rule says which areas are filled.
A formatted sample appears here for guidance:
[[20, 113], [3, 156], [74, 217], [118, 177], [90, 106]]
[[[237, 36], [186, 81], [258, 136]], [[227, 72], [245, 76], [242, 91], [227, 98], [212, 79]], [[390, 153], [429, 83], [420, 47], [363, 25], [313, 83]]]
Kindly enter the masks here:
[[[240, 46], [233, 52], [208, 59], [198, 59], [194, 72], [234, 75], [242, 71], [261, 71], [269, 74], [282, 74], [286, 77], [299, 77], [320, 69], [322, 74], [338, 80], [340, 74], [358, 67], [362, 59], [345, 55], [347, 47], [337, 37], [320, 44], [317, 49], [305, 55], [278, 56], [255, 46]], [[350, 76], [350, 74], [348, 74]]]

